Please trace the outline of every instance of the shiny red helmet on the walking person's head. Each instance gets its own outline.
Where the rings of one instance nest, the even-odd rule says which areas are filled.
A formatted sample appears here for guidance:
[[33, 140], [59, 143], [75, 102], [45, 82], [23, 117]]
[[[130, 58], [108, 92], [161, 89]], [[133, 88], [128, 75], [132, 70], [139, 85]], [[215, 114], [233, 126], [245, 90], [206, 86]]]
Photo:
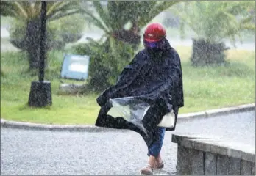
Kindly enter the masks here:
[[157, 42], [166, 37], [166, 29], [160, 23], [151, 23], [143, 34], [147, 42]]

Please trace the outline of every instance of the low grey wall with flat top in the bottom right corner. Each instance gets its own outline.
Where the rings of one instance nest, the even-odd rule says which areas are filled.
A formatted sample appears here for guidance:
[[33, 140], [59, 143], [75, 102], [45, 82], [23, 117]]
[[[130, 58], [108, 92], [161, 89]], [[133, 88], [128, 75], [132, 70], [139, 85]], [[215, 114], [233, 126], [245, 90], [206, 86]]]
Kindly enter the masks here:
[[215, 137], [173, 134], [177, 175], [255, 175], [255, 147]]

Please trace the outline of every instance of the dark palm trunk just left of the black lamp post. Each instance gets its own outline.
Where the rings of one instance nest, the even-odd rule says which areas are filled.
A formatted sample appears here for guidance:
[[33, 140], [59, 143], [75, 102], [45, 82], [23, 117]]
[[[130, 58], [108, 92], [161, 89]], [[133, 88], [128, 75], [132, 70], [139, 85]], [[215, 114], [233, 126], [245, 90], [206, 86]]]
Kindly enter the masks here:
[[29, 54], [29, 69], [38, 69], [40, 61], [40, 18], [28, 21], [25, 41], [26, 51]]

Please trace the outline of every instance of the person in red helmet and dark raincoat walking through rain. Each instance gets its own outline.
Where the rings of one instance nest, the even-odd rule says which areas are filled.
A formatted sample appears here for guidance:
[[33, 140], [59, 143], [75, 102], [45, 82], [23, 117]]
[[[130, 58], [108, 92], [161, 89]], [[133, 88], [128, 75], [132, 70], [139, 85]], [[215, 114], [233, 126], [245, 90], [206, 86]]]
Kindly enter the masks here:
[[[179, 108], [184, 106], [182, 67], [177, 51], [166, 39], [166, 29], [160, 23], [151, 23], [143, 34], [144, 49], [121, 72], [117, 83], [104, 90], [97, 98], [101, 106], [96, 126], [129, 129], [138, 132], [148, 147], [148, 164], [141, 169], [143, 175], [153, 175], [154, 169], [162, 169], [160, 155], [166, 131], [176, 128]], [[138, 125], [123, 117], [112, 117], [107, 112], [113, 107], [110, 99], [135, 98], [149, 103], [143, 115], [142, 131]], [[160, 127], [163, 117], [174, 111], [175, 122], [171, 128]]]

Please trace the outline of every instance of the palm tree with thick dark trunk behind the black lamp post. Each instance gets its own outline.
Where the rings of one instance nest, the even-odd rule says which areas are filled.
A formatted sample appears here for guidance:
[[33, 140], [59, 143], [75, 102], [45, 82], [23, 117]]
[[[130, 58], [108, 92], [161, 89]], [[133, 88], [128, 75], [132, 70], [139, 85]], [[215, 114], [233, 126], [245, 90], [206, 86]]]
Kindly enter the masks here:
[[[40, 54], [40, 6], [41, 1], [1, 1], [1, 15], [26, 23], [25, 47], [29, 54], [29, 68], [38, 68]], [[47, 22], [80, 13], [79, 1], [48, 1]]]

